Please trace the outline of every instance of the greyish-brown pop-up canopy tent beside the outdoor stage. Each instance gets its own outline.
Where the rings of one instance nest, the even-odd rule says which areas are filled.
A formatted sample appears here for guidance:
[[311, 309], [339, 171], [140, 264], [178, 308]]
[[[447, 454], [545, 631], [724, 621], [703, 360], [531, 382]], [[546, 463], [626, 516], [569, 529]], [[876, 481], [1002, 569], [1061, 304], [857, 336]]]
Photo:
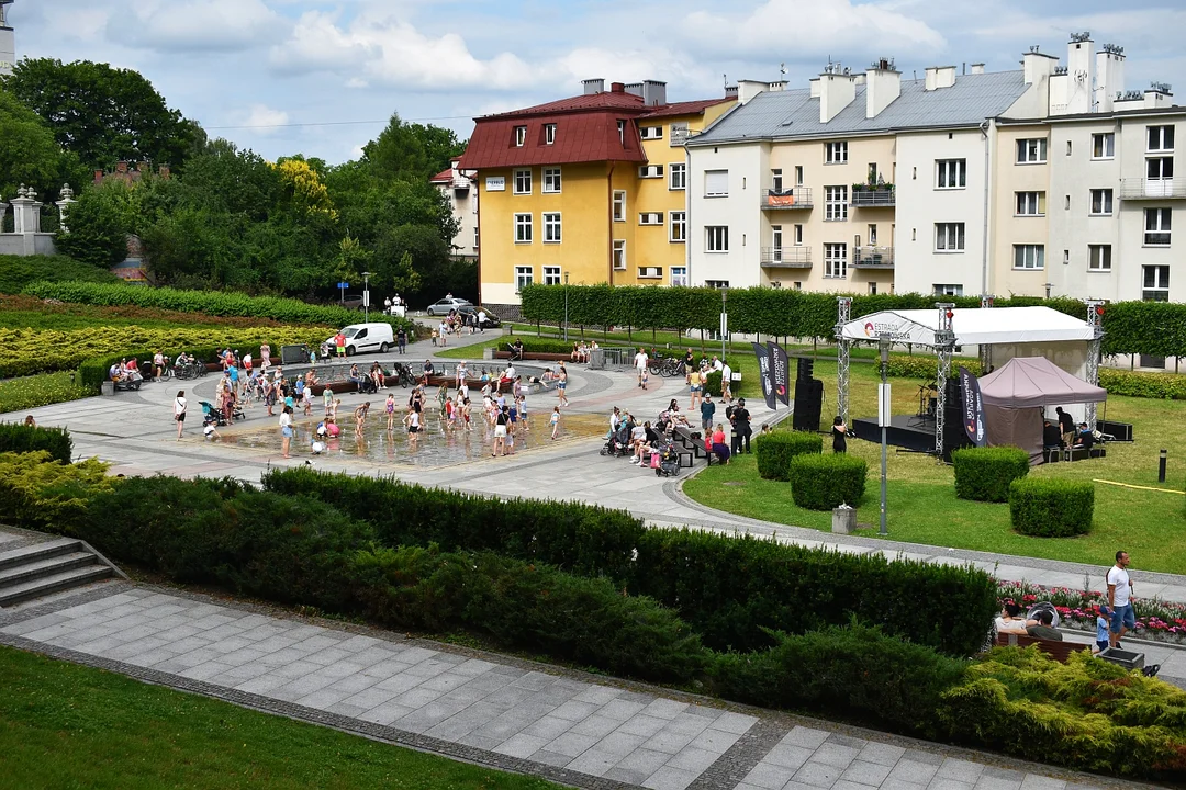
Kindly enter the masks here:
[[1077, 379], [1042, 357], [1015, 357], [981, 377], [984, 429], [989, 445], [1009, 444], [1041, 458], [1042, 419], [1047, 406], [1102, 403], [1103, 387]]

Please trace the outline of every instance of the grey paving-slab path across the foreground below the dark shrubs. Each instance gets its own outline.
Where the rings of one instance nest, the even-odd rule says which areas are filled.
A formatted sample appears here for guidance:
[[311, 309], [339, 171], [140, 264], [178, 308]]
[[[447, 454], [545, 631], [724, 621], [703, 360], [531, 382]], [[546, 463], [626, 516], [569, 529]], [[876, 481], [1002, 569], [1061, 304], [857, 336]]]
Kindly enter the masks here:
[[0, 643], [573, 786], [1147, 786], [358, 630], [122, 582], [0, 614]]

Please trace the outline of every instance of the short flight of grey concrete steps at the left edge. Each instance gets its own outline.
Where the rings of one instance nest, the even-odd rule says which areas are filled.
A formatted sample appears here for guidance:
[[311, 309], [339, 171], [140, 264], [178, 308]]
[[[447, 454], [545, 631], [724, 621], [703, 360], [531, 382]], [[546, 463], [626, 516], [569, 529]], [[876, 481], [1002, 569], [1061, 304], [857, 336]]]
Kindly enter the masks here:
[[0, 553], [0, 606], [123, 576], [82, 540], [58, 538]]

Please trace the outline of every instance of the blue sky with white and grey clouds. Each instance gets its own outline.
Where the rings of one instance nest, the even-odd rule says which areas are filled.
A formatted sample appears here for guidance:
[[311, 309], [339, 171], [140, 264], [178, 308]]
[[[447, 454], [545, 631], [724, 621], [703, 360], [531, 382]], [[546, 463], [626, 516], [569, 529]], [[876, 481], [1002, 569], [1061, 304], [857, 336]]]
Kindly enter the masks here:
[[[580, 81], [662, 79], [670, 101], [726, 81], [805, 86], [829, 59], [863, 70], [1018, 69], [1071, 32], [1124, 47], [1129, 90], [1186, 96], [1182, 0], [15, 0], [17, 56], [135, 69], [211, 137], [268, 159], [355, 159], [393, 113], [448, 127], [579, 94]], [[1186, 99], [1184, 99], [1186, 103]]]

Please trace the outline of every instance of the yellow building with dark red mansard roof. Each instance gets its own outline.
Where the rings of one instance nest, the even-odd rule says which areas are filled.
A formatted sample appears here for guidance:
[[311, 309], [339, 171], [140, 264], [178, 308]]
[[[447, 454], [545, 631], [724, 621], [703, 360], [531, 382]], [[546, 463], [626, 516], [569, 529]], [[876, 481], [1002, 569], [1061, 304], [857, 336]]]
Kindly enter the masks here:
[[530, 283], [686, 284], [689, 135], [733, 97], [669, 104], [663, 83], [476, 120], [479, 296], [515, 317]]

